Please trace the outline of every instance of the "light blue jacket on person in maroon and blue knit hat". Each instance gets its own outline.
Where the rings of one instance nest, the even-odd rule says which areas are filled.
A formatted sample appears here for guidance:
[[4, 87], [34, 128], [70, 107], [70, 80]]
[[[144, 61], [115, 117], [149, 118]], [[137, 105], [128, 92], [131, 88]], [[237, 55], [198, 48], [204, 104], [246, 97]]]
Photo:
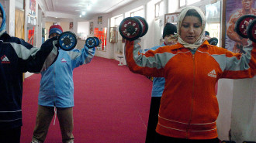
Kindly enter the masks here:
[[73, 70], [82, 64], [90, 63], [95, 48], [59, 49], [57, 60], [41, 73], [38, 104], [47, 107], [74, 107]]

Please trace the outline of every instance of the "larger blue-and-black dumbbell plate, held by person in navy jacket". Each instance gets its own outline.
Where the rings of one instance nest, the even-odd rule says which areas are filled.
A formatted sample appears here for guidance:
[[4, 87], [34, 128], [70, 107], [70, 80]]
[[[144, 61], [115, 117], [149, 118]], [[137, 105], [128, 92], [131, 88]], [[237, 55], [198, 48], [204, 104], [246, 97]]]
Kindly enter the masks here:
[[77, 36], [75, 36], [75, 34], [70, 31], [62, 32], [57, 39], [57, 44], [60, 46], [61, 49], [65, 51], [74, 49], [77, 43], [78, 43]]

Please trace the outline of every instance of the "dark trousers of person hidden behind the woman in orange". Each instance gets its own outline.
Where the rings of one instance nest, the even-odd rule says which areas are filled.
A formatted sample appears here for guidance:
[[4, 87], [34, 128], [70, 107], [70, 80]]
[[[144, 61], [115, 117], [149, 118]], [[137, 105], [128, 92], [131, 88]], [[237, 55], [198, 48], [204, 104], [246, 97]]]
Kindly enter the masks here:
[[153, 143], [156, 136], [156, 128], [158, 122], [158, 112], [160, 107], [161, 97], [151, 97], [150, 114], [147, 123], [146, 143]]

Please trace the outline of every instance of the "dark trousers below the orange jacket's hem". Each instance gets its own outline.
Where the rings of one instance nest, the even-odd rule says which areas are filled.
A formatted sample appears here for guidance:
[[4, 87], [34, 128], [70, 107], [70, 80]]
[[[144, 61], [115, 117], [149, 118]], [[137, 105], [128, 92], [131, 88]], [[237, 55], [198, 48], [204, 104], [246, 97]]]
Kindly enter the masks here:
[[220, 143], [219, 138], [207, 140], [189, 140], [184, 138], [171, 138], [161, 134], [157, 134], [154, 143]]

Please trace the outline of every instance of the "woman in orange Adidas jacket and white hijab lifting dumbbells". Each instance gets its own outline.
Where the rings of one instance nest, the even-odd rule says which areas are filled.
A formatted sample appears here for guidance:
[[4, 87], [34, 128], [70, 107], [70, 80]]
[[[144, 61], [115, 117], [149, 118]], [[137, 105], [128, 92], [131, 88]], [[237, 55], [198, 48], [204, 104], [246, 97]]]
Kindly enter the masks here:
[[158, 114], [157, 143], [218, 143], [219, 114], [215, 84], [220, 78], [241, 79], [256, 73], [256, 43], [245, 54], [209, 45], [205, 15], [186, 7], [179, 15], [178, 43], [140, 53], [140, 39], [126, 41], [126, 63], [133, 73], [164, 77]]

